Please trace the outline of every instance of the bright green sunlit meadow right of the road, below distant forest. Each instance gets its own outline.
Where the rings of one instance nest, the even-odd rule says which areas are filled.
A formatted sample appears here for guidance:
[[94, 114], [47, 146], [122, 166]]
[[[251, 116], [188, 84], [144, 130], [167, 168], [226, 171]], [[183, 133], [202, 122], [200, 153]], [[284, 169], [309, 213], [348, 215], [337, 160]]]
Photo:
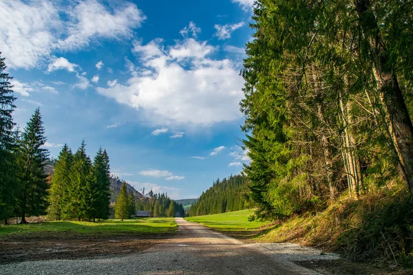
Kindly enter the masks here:
[[194, 221], [223, 232], [244, 232], [243, 236], [255, 236], [260, 227], [268, 223], [262, 221], [248, 221], [253, 210], [240, 210], [206, 216], [187, 217], [188, 221]]

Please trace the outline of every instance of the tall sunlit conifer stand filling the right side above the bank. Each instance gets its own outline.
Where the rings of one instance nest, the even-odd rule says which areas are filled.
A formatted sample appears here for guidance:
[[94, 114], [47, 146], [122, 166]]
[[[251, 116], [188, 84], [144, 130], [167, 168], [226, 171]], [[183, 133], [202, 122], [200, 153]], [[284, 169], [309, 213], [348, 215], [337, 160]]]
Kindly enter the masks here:
[[412, 10], [412, 1], [257, 1], [240, 102], [257, 217], [413, 192]]

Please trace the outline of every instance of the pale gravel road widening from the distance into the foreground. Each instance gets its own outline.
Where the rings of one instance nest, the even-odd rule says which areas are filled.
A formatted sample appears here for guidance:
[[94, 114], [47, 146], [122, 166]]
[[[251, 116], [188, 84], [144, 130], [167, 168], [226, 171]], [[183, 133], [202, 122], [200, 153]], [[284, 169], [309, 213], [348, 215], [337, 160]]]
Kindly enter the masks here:
[[198, 223], [176, 218], [178, 234], [127, 256], [27, 261], [0, 266], [0, 274], [317, 274], [293, 261], [333, 260], [292, 243], [245, 244]]

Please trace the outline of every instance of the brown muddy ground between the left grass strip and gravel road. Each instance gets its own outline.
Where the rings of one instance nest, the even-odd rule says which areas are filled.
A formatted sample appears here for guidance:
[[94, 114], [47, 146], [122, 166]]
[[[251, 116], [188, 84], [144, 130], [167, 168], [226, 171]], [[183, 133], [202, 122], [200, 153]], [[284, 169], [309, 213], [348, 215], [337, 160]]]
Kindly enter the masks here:
[[6, 236], [0, 239], [0, 265], [22, 261], [119, 256], [147, 250], [171, 236], [173, 234]]

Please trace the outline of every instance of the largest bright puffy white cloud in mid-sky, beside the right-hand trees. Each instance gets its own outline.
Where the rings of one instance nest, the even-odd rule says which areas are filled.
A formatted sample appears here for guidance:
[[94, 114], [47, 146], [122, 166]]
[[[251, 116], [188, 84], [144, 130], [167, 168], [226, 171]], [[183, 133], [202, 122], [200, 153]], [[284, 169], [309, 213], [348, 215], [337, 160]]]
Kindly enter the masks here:
[[218, 48], [184, 39], [165, 48], [156, 39], [134, 43], [140, 70], [125, 84], [98, 87], [98, 94], [143, 112], [152, 125], [211, 126], [241, 117], [244, 81], [229, 59], [213, 60]]

